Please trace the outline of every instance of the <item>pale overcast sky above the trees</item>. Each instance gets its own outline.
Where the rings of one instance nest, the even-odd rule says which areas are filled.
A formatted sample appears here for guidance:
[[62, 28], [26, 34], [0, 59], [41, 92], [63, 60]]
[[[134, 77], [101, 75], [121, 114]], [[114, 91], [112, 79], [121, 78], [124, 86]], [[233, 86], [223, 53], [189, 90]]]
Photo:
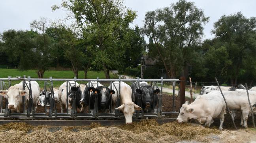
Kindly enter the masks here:
[[[178, 0], [124, 0], [126, 7], [137, 11], [134, 25], [143, 26], [146, 11], [170, 6]], [[204, 26], [205, 38], [212, 38], [213, 23], [222, 15], [230, 15], [241, 11], [247, 18], [256, 16], [256, 0], [188, 0], [195, 2], [199, 9], [203, 9], [210, 17], [209, 23]], [[29, 23], [40, 17], [47, 17], [52, 21], [64, 18], [67, 11], [53, 12], [51, 6], [61, 4], [61, 0], [1, 0], [0, 1], [0, 33], [8, 29], [30, 29]]]

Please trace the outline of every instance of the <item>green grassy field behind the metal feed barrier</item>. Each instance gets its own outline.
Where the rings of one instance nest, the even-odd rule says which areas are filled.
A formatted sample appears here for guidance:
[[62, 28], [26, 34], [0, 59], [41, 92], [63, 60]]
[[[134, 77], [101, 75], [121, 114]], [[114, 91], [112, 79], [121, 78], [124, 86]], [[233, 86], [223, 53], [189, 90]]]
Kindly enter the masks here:
[[[0, 78], [8, 78], [8, 76], [16, 77], [16, 76], [23, 76], [26, 75], [26, 77], [30, 76], [31, 78], [38, 78], [36, 70], [28, 70], [28, 71], [19, 71], [14, 69], [1, 69], [0, 68]], [[74, 78], [74, 73], [72, 71], [45, 71], [45, 74], [43, 78], [49, 78], [53, 77], [54, 79], [72, 79]], [[83, 79], [85, 77], [85, 74], [83, 71], [79, 71], [78, 77], [80, 79]], [[99, 79], [105, 79], [104, 72], [93, 72], [89, 71], [87, 73], [87, 79], [96, 79], [99, 77]], [[110, 78], [115, 78], [112, 74], [110, 74]], [[20, 83], [21, 81], [11, 81], [11, 85]], [[58, 88], [60, 84], [62, 84], [64, 81], [54, 81], [53, 85], [55, 88]], [[81, 82], [79, 82], [81, 83]], [[40, 88], [44, 87], [44, 81], [38, 81], [38, 84]]]

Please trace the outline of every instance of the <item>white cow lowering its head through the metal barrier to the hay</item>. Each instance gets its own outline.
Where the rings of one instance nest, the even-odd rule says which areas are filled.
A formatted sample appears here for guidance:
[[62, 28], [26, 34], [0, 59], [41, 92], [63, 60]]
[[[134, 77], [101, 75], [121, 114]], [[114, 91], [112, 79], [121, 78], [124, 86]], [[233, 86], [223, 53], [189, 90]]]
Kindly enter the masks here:
[[[115, 81], [113, 84], [115, 84], [117, 89], [119, 89], [118, 81]], [[112, 87], [113, 87], [113, 84], [112, 84]], [[110, 89], [110, 86], [109, 86], [109, 89]], [[116, 89], [114, 90], [115, 90], [115, 93], [118, 92]], [[117, 100], [117, 95], [112, 95], [112, 103], [114, 108], [116, 106], [116, 100]], [[132, 88], [128, 84], [122, 81], [120, 82], [120, 105], [121, 106], [115, 109], [122, 110], [125, 117], [126, 124], [132, 123], [132, 116], [135, 110], [142, 110], [140, 106], [132, 102]]]

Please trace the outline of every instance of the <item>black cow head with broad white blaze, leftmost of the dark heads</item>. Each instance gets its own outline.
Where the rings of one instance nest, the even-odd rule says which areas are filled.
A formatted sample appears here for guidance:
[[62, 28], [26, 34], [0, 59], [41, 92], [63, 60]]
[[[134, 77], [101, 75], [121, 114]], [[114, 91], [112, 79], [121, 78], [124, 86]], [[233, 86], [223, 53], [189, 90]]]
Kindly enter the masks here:
[[89, 104], [88, 87], [86, 84], [80, 84], [79, 86], [73, 86], [69, 95], [75, 94], [75, 102], [79, 112], [83, 112], [86, 106]]

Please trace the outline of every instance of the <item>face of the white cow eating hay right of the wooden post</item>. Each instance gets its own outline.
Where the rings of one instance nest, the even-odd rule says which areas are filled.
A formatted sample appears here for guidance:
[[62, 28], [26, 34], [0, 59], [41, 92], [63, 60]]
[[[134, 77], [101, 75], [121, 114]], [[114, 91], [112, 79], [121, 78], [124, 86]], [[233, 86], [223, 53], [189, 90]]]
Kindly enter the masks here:
[[194, 109], [190, 108], [188, 105], [188, 101], [186, 101], [180, 109], [180, 114], [177, 117], [177, 122], [183, 123], [192, 118], [197, 118], [197, 117], [195, 117], [194, 115]]

